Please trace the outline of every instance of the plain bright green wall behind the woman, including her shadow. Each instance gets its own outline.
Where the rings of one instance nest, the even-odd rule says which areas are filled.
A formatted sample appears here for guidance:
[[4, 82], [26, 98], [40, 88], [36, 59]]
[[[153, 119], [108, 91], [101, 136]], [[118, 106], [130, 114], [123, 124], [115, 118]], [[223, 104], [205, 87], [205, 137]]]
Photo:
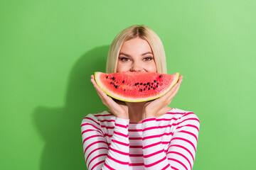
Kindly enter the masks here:
[[80, 123], [119, 31], [144, 24], [201, 121], [193, 170], [255, 169], [256, 1], [0, 1], [0, 169], [86, 169]]

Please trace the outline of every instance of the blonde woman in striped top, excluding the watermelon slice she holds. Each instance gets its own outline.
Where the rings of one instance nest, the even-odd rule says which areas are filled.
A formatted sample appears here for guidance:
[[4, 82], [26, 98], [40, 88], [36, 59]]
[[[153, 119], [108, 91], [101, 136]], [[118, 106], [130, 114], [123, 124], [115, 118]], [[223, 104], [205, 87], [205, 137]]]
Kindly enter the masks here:
[[[166, 57], [159, 37], [150, 28], [130, 26], [113, 40], [107, 73], [166, 74]], [[109, 108], [82, 120], [87, 169], [192, 169], [199, 132], [198, 117], [169, 108], [178, 83], [154, 101], [129, 103], [107, 96], [91, 76], [93, 86]]]

